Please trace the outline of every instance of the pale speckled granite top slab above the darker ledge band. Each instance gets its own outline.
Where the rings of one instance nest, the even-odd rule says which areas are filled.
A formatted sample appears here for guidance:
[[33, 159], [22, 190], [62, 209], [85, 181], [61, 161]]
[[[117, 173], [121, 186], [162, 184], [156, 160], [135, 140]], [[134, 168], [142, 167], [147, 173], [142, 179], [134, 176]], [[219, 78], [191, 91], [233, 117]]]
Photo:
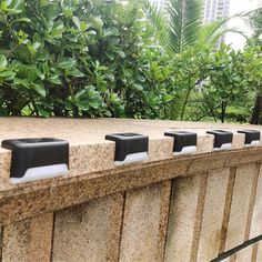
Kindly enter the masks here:
[[[70, 174], [79, 177], [107, 170], [132, 170], [140, 165], [162, 160], [173, 160], [173, 139], [164, 137], [164, 131], [185, 130], [198, 133], [198, 153], [211, 152], [213, 135], [206, 134], [211, 129], [230, 129], [234, 132], [233, 149], [243, 148], [244, 135], [238, 134], [239, 129], [259, 129], [251, 125], [229, 125], [214, 123], [190, 123], [175, 121], [128, 120], [128, 119], [33, 119], [1, 118], [0, 141], [14, 138], [60, 138], [70, 143]], [[115, 168], [114, 142], [104, 140], [104, 135], [114, 132], [138, 132], [149, 135], [149, 160], [144, 163]], [[68, 178], [44, 180], [33, 183], [13, 185], [10, 175], [9, 150], [0, 148], [0, 198], [9, 190], [38, 190], [67, 182]], [[175, 157], [179, 158], [179, 157]], [[180, 157], [181, 158], [181, 157]], [[182, 157], [184, 158], [184, 157]], [[135, 168], [137, 165], [137, 168]], [[63, 182], [62, 182], [63, 181]], [[24, 191], [26, 192], [26, 191]]]

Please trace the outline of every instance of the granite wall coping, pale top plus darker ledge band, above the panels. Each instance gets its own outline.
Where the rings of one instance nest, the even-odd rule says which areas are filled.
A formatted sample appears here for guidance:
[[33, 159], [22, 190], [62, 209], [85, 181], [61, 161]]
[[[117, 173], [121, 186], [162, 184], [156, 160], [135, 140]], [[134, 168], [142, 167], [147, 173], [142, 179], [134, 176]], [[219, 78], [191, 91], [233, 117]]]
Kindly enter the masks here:
[[[206, 130], [212, 129], [231, 130], [234, 133], [232, 150], [212, 152], [213, 135], [206, 134]], [[244, 135], [236, 133], [240, 129], [262, 130], [258, 125], [154, 120], [1, 118], [0, 141], [42, 137], [68, 140], [70, 173], [63, 178], [11, 184], [11, 151], [0, 148], [0, 223], [26, 219], [34, 213], [62, 209], [179, 175], [232, 167], [240, 162], [259, 161], [262, 159], [262, 147], [243, 148]], [[170, 130], [196, 132], [196, 154], [174, 157], [173, 139], [163, 135]], [[149, 135], [149, 160], [115, 167], [114, 142], [104, 140], [105, 134], [114, 132], [138, 132]]]

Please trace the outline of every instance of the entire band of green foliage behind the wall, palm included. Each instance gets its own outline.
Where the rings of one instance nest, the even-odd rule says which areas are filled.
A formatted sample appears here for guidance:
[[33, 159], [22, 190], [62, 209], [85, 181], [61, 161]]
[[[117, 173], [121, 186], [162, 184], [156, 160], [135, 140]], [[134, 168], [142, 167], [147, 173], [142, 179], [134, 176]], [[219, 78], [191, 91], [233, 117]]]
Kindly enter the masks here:
[[167, 20], [144, 2], [2, 0], [0, 115], [246, 118], [261, 41], [215, 49], [226, 19], [203, 27], [199, 1], [171, 0]]

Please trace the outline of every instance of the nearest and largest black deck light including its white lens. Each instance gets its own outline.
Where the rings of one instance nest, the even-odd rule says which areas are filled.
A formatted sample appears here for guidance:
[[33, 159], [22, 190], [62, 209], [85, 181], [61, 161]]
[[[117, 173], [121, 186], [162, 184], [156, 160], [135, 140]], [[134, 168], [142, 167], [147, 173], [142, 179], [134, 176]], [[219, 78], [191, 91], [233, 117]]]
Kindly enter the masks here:
[[11, 183], [66, 175], [69, 172], [69, 143], [60, 139], [3, 140], [2, 148], [12, 151]]

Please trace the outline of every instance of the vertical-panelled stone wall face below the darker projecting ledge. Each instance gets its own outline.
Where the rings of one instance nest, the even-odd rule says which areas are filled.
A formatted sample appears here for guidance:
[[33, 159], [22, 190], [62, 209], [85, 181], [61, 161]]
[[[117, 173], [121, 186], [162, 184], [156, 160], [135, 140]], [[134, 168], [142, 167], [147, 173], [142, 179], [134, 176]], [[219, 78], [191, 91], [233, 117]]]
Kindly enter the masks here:
[[[94, 198], [2, 226], [2, 261], [211, 261], [262, 234], [258, 162]], [[228, 261], [261, 261], [256, 242]], [[225, 261], [226, 261], [225, 260]]]

